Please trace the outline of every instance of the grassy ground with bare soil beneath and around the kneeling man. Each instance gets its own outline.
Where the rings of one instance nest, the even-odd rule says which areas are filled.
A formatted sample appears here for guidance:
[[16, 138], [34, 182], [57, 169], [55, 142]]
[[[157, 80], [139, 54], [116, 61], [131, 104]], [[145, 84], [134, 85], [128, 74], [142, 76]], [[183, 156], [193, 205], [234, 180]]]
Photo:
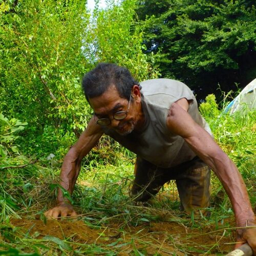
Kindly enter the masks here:
[[[230, 116], [222, 114], [212, 98], [206, 103], [201, 111], [217, 142], [237, 164], [255, 208], [255, 111]], [[58, 236], [43, 235], [44, 231], [34, 229], [40, 223], [34, 220], [36, 214], [44, 225], [42, 212], [54, 205], [54, 184], [58, 181], [58, 166], [42, 159], [24, 168], [0, 169], [0, 255], [146, 255], [148, 250], [154, 255], [222, 255], [231, 248], [227, 244], [234, 242], [233, 213], [214, 175], [208, 218], [179, 211], [175, 182], [166, 184], [150, 202], [137, 204], [129, 197], [134, 155], [119, 145], [114, 153], [110, 152], [113, 142], [105, 143], [84, 160], [73, 195], [74, 206], [81, 214], [79, 223], [92, 232], [94, 241], [79, 238], [79, 227], [68, 232], [67, 227], [73, 228], [77, 222], [74, 220], [56, 224], [60, 228]], [[5, 157], [5, 161], [13, 157], [17, 156]], [[12, 218], [23, 218], [25, 222], [13, 225]], [[84, 236], [90, 237], [90, 232]]]

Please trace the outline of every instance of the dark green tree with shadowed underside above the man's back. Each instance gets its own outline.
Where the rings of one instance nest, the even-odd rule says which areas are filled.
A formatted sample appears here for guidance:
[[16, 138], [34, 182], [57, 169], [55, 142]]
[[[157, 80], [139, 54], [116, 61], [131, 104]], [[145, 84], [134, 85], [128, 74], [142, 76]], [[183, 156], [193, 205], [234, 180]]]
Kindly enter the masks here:
[[254, 1], [148, 0], [138, 6], [146, 52], [159, 53], [164, 77], [185, 81], [200, 98], [216, 94], [218, 83], [230, 91], [234, 82], [245, 86], [255, 78]]

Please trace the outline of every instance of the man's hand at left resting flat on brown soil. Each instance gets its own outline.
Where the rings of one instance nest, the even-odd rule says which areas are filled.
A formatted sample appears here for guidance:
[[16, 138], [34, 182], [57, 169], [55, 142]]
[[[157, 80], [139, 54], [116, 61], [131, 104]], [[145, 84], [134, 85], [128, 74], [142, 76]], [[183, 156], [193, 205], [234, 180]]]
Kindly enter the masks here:
[[47, 219], [59, 219], [61, 217], [74, 217], [77, 213], [73, 206], [68, 203], [63, 203], [45, 212]]

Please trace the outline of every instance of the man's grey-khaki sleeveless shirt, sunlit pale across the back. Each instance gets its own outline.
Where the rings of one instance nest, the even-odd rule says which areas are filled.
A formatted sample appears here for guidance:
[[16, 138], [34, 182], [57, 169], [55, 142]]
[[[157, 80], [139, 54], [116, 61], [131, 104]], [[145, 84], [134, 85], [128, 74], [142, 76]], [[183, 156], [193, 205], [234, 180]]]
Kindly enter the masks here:
[[170, 132], [166, 125], [170, 106], [186, 98], [189, 102], [188, 114], [212, 136], [208, 124], [199, 113], [193, 92], [184, 83], [172, 79], [151, 79], [140, 85], [142, 111], [146, 120], [144, 129], [123, 136], [103, 126], [104, 133], [140, 158], [162, 168], [174, 167], [193, 159], [196, 154], [185, 140]]

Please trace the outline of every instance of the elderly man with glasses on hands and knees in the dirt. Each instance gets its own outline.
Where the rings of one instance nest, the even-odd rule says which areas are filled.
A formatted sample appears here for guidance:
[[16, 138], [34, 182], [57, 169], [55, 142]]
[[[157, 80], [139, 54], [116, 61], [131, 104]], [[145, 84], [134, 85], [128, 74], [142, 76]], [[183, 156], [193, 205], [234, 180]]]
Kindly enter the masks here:
[[[107, 134], [137, 155], [134, 200], [146, 201], [164, 183], [176, 180], [182, 210], [207, 215], [211, 169], [228, 194], [237, 226], [256, 224], [237, 167], [212, 139], [195, 96], [184, 83], [170, 79], [139, 83], [129, 70], [100, 63], [84, 76], [82, 87], [94, 116], [62, 164], [60, 185], [70, 194], [82, 158]], [[57, 206], [46, 216], [75, 215], [59, 189]], [[256, 228], [240, 228], [237, 233], [238, 241], [247, 241], [256, 253]]]

